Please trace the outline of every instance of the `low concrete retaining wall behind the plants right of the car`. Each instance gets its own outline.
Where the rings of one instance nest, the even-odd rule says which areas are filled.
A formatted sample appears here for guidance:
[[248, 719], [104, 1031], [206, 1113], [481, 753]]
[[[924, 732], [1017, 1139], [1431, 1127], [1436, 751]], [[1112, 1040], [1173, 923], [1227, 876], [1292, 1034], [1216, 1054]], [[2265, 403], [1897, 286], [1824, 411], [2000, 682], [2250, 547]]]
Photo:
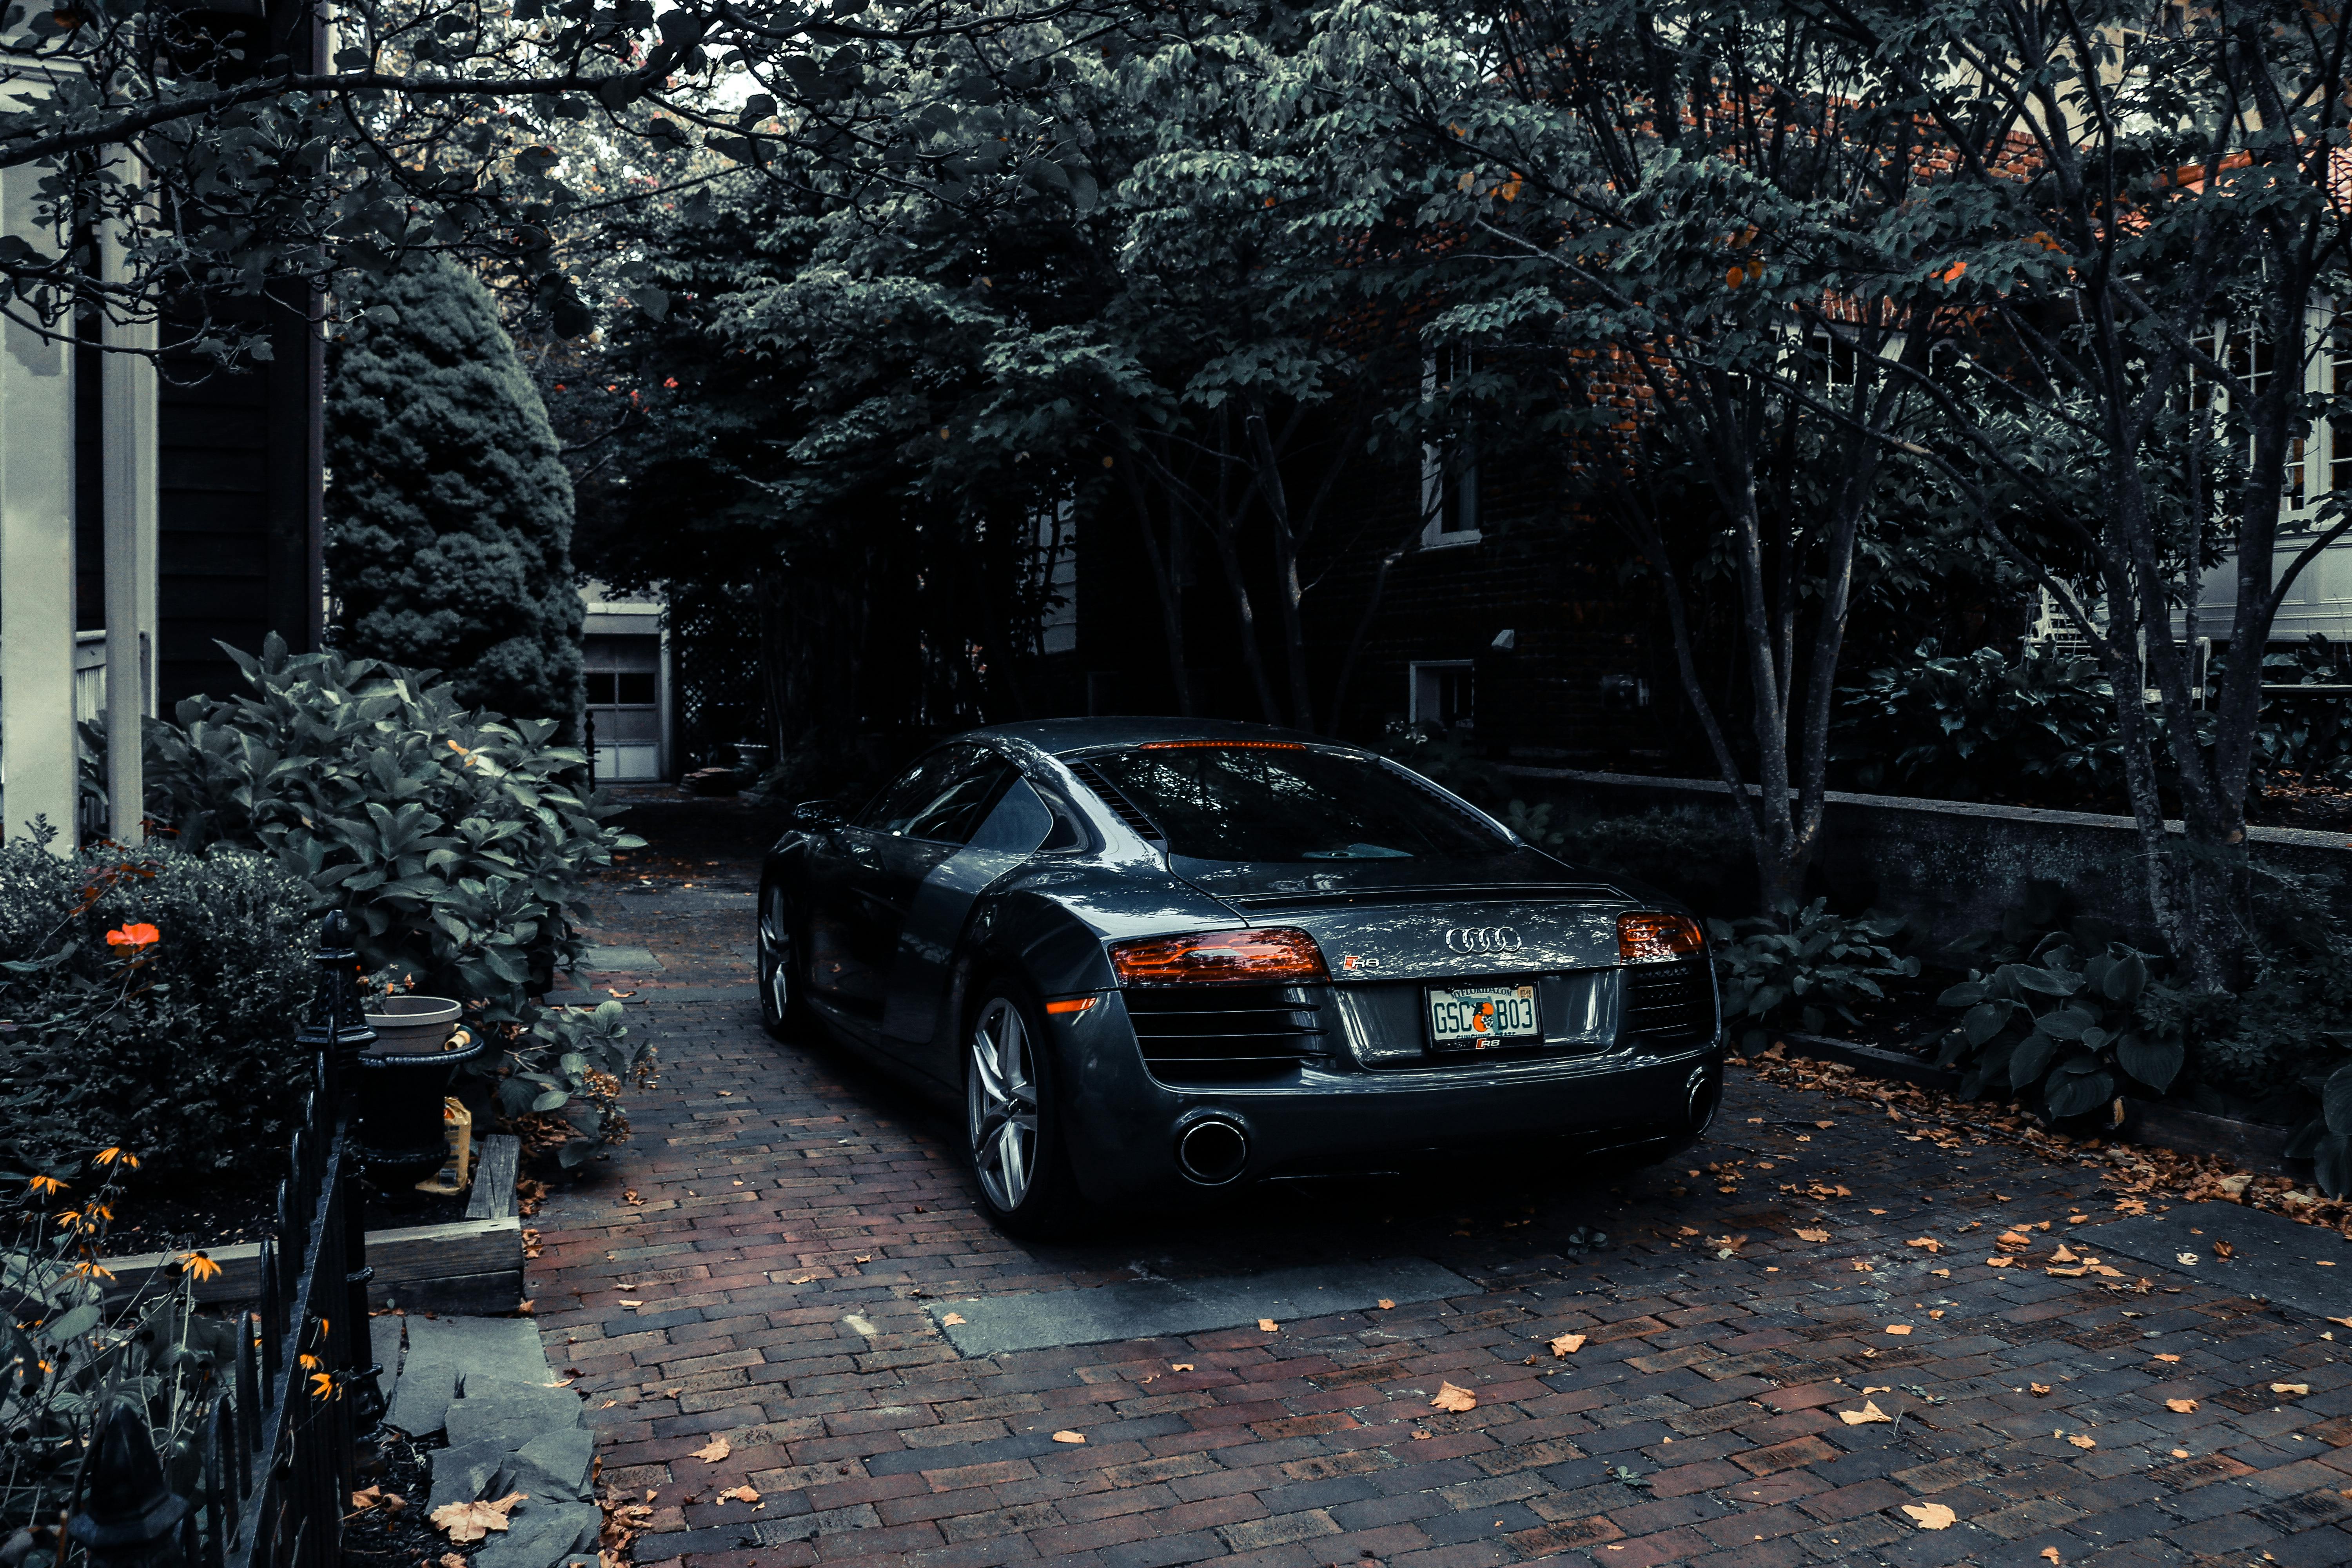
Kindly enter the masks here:
[[[1731, 813], [1731, 788], [1722, 780], [1505, 771], [1590, 816], [1693, 804]], [[2089, 910], [2140, 931], [2143, 943], [2154, 940], [2138, 870], [2140, 839], [2129, 816], [1832, 790], [1823, 835], [1818, 891], [1839, 907], [1910, 914], [1926, 924], [1933, 947], [1999, 924], [2002, 910], [2037, 877], [2067, 884]], [[2260, 867], [2319, 877], [2352, 872], [2352, 835], [2253, 827], [2251, 837]], [[2352, 889], [2352, 875], [2345, 886]]]

